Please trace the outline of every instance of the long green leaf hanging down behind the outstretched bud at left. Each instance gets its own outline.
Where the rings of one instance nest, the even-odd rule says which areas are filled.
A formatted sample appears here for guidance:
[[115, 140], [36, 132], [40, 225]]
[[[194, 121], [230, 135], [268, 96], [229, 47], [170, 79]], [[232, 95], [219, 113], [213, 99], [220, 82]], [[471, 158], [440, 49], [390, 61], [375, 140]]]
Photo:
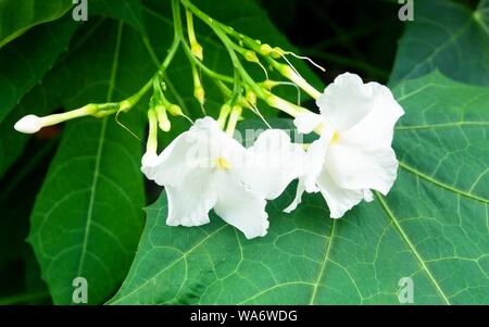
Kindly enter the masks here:
[[[104, 22], [50, 75], [47, 89], [60, 92], [64, 108], [123, 99], [151, 76], [147, 67], [133, 65], [145, 55], [138, 34]], [[63, 87], [66, 81], [68, 88]], [[141, 136], [137, 111], [120, 120]], [[90, 304], [104, 302], [125, 277], [143, 222], [141, 151], [141, 143], [113, 117], [66, 125], [38, 194], [28, 239], [54, 303], [71, 303], [75, 277], [87, 279]]]

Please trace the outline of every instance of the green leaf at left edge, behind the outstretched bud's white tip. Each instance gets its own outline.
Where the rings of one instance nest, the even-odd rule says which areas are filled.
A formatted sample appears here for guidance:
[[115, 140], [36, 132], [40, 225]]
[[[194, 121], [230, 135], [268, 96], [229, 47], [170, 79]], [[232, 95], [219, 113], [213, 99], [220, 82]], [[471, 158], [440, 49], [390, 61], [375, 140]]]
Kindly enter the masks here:
[[33, 28], [0, 51], [0, 177], [22, 154], [27, 140], [13, 129], [26, 114], [39, 116], [53, 108], [40, 84], [66, 51], [77, 28], [71, 18]]

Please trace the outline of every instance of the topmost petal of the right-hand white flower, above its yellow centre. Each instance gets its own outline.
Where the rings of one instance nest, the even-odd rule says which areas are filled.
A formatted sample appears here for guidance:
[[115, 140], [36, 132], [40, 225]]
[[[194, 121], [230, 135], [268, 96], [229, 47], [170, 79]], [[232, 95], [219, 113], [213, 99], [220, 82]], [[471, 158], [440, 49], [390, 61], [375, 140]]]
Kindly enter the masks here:
[[346, 73], [326, 87], [316, 104], [325, 120], [343, 131], [362, 121], [375, 102], [373, 84], [364, 85], [358, 75]]

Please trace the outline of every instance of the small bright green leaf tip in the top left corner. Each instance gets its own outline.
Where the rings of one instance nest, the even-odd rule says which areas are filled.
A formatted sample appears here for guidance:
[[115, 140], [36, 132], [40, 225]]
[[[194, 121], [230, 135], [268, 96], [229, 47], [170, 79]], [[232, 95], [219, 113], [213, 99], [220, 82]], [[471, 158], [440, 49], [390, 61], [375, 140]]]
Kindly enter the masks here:
[[30, 27], [61, 17], [72, 5], [72, 0], [0, 1], [0, 48]]

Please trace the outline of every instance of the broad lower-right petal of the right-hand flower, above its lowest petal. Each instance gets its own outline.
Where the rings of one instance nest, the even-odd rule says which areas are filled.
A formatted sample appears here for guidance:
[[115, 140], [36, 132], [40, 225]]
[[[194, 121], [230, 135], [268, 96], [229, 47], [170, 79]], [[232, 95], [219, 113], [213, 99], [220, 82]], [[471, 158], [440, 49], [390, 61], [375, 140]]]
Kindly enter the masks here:
[[326, 167], [339, 187], [387, 194], [397, 177], [398, 161], [390, 148], [364, 150], [337, 143], [328, 149]]

